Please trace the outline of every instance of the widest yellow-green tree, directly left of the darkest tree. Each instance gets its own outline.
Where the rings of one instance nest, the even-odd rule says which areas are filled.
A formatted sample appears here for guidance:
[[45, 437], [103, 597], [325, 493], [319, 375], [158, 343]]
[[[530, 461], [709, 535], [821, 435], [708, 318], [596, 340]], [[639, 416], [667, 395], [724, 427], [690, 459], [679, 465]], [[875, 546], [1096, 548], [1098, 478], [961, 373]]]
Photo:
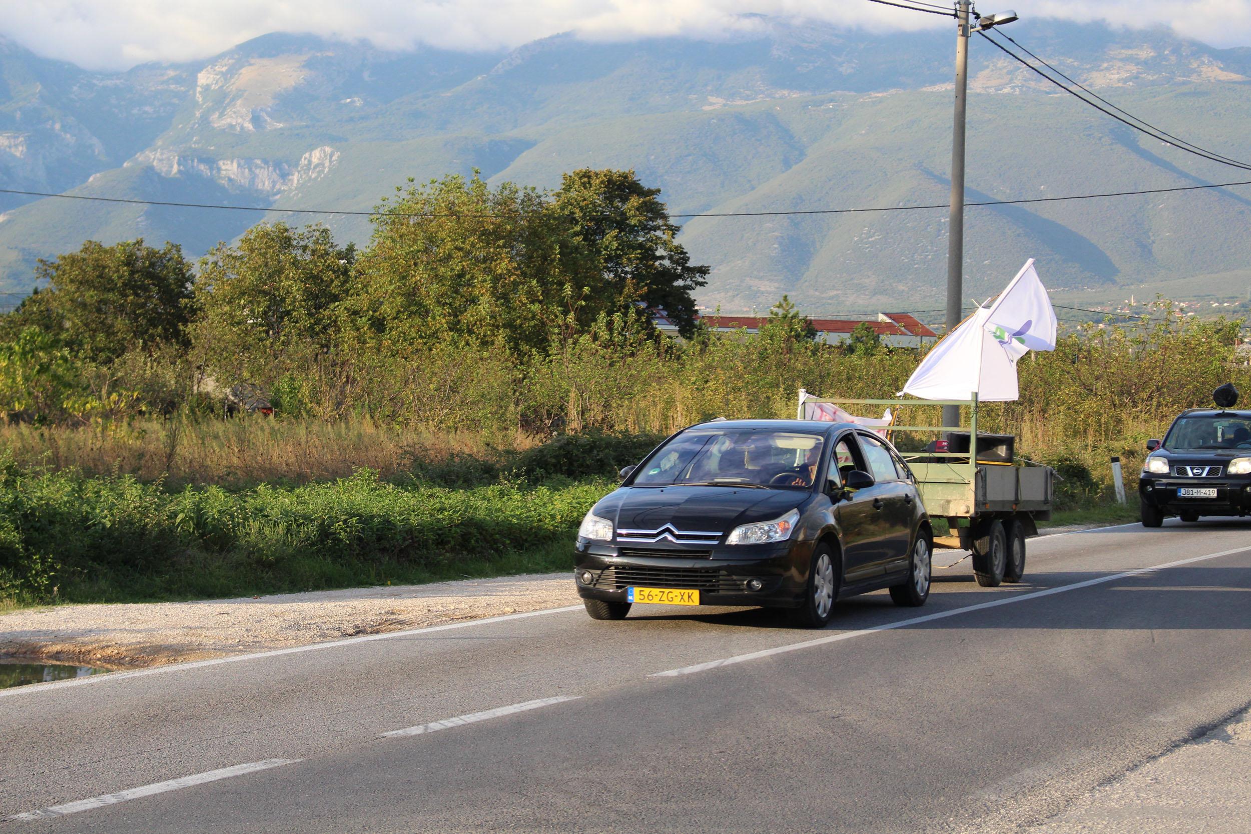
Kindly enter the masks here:
[[585, 271], [548, 201], [478, 173], [384, 200], [362, 255], [350, 311], [362, 334], [394, 345], [500, 345], [545, 350], [580, 313]]

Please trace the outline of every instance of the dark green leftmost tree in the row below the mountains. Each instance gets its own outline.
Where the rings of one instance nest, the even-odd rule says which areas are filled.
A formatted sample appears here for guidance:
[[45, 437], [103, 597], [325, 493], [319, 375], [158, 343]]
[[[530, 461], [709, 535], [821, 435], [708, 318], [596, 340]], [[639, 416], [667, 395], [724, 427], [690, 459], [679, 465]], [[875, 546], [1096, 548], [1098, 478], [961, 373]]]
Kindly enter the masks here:
[[193, 275], [176, 244], [153, 249], [143, 239], [111, 246], [89, 240], [76, 253], [40, 259], [35, 278], [48, 281], [39, 316], [91, 359], [111, 361], [131, 348], [186, 343]]

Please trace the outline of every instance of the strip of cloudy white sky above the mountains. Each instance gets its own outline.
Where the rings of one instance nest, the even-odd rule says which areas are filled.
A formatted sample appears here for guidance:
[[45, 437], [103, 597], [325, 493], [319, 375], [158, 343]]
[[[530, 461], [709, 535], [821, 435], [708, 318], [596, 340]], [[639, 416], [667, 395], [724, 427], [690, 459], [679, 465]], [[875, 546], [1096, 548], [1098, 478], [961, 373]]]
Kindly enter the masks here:
[[[1003, 0], [983, 1], [978, 10], [1003, 6], [1022, 19], [1162, 24], [1213, 46], [1251, 45], [1251, 0]], [[494, 50], [569, 31], [610, 40], [717, 38], [751, 28], [747, 13], [869, 30], [950, 25], [938, 15], [868, 0], [0, 0], [0, 34], [46, 58], [126, 69], [208, 58], [271, 31], [368, 40], [383, 49]]]

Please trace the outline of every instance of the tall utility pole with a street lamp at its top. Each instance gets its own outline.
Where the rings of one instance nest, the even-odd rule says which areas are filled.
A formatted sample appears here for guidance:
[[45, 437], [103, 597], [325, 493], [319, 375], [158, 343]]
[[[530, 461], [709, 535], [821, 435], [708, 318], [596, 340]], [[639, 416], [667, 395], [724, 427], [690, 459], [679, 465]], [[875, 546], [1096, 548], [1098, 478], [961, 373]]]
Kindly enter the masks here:
[[[976, 19], [971, 23], [970, 18]], [[951, 215], [947, 236], [947, 333], [960, 325], [965, 283], [965, 105], [968, 95], [968, 39], [973, 31], [1010, 24], [1015, 11], [977, 15], [972, 0], [956, 4], [956, 119], [951, 139]], [[942, 408], [943, 425], [960, 425], [960, 406]]]

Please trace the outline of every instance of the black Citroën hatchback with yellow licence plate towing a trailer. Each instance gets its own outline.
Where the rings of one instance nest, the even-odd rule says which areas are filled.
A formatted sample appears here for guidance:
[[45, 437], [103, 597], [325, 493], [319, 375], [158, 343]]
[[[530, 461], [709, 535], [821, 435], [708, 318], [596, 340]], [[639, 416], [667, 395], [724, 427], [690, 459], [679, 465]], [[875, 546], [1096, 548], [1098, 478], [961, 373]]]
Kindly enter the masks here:
[[703, 423], [622, 476], [578, 530], [574, 580], [597, 620], [633, 603], [761, 605], [816, 628], [842, 596], [929, 595], [933, 534], [916, 481], [863, 428]]

